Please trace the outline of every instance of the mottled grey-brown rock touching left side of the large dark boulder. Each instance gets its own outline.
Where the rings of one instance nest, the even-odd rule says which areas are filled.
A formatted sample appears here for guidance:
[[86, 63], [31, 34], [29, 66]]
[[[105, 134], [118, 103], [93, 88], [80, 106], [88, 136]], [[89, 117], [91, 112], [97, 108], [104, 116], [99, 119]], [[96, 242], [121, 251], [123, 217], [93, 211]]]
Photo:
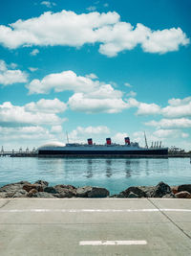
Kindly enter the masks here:
[[72, 185], [56, 185], [53, 187], [56, 198], [74, 198], [76, 197], [76, 188]]

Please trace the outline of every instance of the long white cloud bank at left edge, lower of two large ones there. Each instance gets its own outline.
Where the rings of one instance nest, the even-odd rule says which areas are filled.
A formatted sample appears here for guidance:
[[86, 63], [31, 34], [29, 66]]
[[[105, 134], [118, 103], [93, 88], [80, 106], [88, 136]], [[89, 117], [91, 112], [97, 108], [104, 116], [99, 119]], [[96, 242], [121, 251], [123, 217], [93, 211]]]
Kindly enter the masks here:
[[[60, 111], [59, 106], [55, 107], [53, 100], [53, 109], [50, 110], [51, 100], [39, 101], [36, 105], [11, 105], [6, 102], [0, 105], [0, 126], [1, 127], [25, 127], [38, 125], [60, 125], [65, 119], [58, 117], [55, 113]], [[41, 108], [42, 106], [42, 108]], [[34, 111], [36, 109], [36, 111]], [[48, 109], [50, 111], [48, 111]], [[58, 110], [59, 109], [59, 110]]]

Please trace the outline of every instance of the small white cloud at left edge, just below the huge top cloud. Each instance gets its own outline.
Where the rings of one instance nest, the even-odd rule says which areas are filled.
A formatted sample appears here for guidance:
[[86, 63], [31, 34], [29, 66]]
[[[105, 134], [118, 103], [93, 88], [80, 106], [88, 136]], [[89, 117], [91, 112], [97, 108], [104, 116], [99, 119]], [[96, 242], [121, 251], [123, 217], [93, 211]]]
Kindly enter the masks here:
[[27, 73], [16, 69], [8, 69], [8, 65], [2, 59], [0, 59], [0, 84], [9, 85], [16, 82], [26, 82], [28, 75]]

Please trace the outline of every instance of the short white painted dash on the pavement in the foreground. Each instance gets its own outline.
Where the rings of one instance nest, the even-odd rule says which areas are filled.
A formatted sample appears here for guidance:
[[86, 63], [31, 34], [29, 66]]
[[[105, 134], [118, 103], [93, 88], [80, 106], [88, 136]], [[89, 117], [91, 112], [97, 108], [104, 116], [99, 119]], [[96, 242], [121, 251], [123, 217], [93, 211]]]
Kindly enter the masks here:
[[144, 245], [145, 240], [123, 240], [123, 241], [80, 241], [79, 245]]

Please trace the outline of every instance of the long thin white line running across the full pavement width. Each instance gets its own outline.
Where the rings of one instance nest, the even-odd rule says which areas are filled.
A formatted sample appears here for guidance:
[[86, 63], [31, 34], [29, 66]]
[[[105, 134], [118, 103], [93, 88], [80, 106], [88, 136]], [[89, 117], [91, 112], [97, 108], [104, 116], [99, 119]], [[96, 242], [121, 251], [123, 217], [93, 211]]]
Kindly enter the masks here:
[[191, 212], [191, 209], [0, 209], [0, 213], [133, 213], [133, 212]]

